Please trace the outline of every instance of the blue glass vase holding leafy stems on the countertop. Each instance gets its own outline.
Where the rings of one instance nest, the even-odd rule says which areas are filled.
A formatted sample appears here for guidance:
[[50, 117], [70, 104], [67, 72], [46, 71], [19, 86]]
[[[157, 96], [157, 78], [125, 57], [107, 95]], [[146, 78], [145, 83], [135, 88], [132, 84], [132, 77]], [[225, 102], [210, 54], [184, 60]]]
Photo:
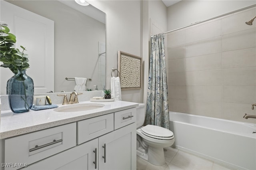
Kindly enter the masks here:
[[18, 70], [18, 73], [8, 80], [6, 87], [12, 112], [23, 113], [31, 109], [34, 99], [34, 81], [26, 75], [26, 70]]

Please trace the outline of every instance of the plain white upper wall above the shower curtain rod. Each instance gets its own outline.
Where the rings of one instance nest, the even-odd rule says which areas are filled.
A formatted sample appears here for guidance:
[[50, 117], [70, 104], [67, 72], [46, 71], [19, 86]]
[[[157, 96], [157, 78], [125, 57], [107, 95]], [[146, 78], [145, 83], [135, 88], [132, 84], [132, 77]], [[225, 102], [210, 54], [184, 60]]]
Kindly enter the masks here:
[[168, 31], [255, 4], [255, 0], [182, 0], [167, 10]]

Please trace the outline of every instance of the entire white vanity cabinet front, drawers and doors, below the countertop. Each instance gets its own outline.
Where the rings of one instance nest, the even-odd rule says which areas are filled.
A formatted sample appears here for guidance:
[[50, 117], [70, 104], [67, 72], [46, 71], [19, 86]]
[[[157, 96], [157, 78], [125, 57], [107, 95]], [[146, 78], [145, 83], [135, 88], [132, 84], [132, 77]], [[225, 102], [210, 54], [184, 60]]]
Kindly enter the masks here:
[[[68, 126], [68, 127], [67, 127]], [[60, 138], [58, 130], [66, 127], [72, 131], [69, 136], [72, 145], [66, 150], [58, 150], [51, 155], [43, 154], [33, 161], [28, 161], [29, 158], [24, 157], [25, 150], [22, 149], [16, 159], [12, 159], [12, 155], [19, 150], [14, 143], [8, 143], [7, 140], [15, 141], [16, 138], [21, 137], [21, 140], [26, 140], [26, 135], [34, 136], [38, 132], [51, 132], [54, 138]], [[135, 170], [136, 169], [136, 109], [126, 109], [117, 111], [75, 123], [62, 125], [59, 127], [49, 128], [46, 130], [33, 132], [30, 134], [21, 135], [5, 140], [5, 157], [9, 155], [8, 162], [28, 163], [27, 167], [22, 170]], [[52, 136], [52, 135], [49, 136]], [[57, 134], [57, 136], [56, 136]], [[39, 135], [40, 136], [40, 135]], [[47, 137], [47, 135], [44, 135]], [[63, 133], [62, 136], [68, 137]], [[38, 138], [36, 136], [35, 138]], [[49, 138], [49, 137], [48, 137]], [[33, 139], [34, 140], [34, 139]], [[50, 139], [52, 140], [52, 138]], [[60, 145], [65, 144], [66, 140], [62, 140]], [[75, 142], [74, 142], [75, 141]], [[18, 140], [16, 140], [18, 142]], [[24, 142], [21, 142], [22, 144]], [[28, 143], [28, 142], [25, 142]], [[41, 146], [41, 144], [37, 144]], [[59, 147], [60, 147], [59, 145]], [[12, 148], [12, 153], [6, 152], [6, 146]], [[34, 146], [34, 143], [32, 143]], [[51, 150], [53, 145], [44, 147], [44, 150], [37, 150], [36, 154], [42, 154]], [[30, 146], [28, 146], [30, 148]], [[35, 147], [37, 148], [37, 146]], [[16, 150], [17, 149], [17, 150]], [[27, 149], [27, 148], [26, 148]], [[14, 152], [16, 150], [16, 152]], [[41, 152], [40, 152], [41, 151]], [[32, 151], [35, 152], [35, 151]], [[36, 155], [35, 154], [35, 155]], [[26, 154], [25, 154], [26, 155]], [[33, 157], [33, 155], [31, 155]], [[30, 155], [28, 155], [30, 157]], [[30, 158], [31, 159], [31, 158]], [[37, 162], [36, 162], [37, 161]], [[34, 163], [33, 163], [34, 162]], [[18, 167], [20, 168], [20, 167]], [[18, 168], [4, 168], [4, 170], [18, 169]]]

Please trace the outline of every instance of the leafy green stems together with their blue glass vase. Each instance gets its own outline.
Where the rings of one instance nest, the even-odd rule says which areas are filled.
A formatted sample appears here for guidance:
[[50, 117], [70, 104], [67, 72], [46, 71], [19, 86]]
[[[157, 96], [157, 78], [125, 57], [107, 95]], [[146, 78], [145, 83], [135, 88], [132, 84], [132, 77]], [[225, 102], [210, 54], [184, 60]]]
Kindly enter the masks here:
[[24, 53], [25, 47], [20, 46], [22, 51], [14, 47], [16, 36], [10, 33], [8, 25], [0, 22], [0, 66], [9, 68], [12, 76], [6, 85], [9, 106], [14, 113], [29, 111], [34, 99], [34, 82], [26, 75], [29, 68], [28, 55]]

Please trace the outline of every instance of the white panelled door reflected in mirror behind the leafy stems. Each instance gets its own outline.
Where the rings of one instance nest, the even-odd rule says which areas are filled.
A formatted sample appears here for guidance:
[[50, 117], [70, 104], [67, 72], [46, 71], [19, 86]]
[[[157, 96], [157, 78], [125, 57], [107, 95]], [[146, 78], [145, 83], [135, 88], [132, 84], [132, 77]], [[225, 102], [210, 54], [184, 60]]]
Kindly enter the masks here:
[[[54, 91], [54, 21], [3, 0], [0, 3], [0, 21], [6, 22], [16, 36], [16, 48], [26, 47], [30, 64], [26, 73], [34, 81], [34, 92]], [[13, 73], [8, 68], [0, 69], [0, 92], [4, 95]]]

